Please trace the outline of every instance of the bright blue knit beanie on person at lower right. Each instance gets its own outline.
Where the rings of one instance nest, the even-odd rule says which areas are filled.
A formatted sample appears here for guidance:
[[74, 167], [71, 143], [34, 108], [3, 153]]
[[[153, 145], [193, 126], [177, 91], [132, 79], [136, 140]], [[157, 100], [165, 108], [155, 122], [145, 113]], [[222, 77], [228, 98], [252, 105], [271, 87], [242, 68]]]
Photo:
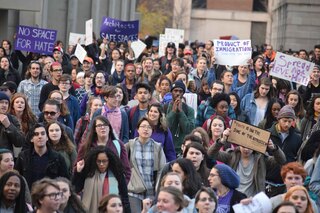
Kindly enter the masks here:
[[240, 184], [239, 175], [228, 165], [218, 164], [214, 168], [218, 170], [221, 183], [230, 189], [236, 189]]

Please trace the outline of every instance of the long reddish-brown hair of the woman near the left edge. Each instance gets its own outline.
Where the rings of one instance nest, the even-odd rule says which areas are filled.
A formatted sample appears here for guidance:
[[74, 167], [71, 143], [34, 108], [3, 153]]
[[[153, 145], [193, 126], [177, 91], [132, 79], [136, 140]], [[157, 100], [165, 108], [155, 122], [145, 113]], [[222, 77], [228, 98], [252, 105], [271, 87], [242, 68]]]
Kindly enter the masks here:
[[25, 103], [25, 107], [24, 107], [24, 110], [23, 110], [23, 113], [22, 113], [22, 117], [21, 117], [21, 131], [24, 133], [24, 134], [27, 134], [31, 125], [32, 124], [35, 124], [37, 122], [37, 117], [33, 114], [29, 104], [28, 104], [28, 98], [26, 95], [22, 94], [22, 93], [15, 93], [12, 98], [11, 98], [11, 101], [10, 101], [10, 110], [9, 110], [9, 113], [16, 116], [16, 112], [13, 108], [13, 105], [14, 105], [14, 101], [17, 99], [17, 98], [22, 98], [24, 100], [24, 103]]

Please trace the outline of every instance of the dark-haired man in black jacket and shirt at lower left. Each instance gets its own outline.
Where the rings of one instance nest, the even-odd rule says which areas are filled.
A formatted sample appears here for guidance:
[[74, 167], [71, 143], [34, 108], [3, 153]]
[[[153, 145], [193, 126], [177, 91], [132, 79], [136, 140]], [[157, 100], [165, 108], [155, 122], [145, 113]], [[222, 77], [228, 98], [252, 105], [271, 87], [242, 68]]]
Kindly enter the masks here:
[[33, 146], [19, 154], [15, 169], [26, 178], [29, 188], [32, 183], [44, 177], [68, 178], [62, 155], [47, 146], [48, 136], [43, 125], [36, 124], [29, 131], [27, 140], [30, 140]]

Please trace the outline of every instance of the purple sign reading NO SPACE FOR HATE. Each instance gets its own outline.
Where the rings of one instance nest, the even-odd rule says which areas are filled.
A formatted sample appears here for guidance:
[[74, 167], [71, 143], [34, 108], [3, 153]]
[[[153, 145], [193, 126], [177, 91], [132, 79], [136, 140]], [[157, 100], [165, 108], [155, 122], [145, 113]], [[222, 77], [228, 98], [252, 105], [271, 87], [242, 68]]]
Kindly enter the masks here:
[[56, 38], [56, 30], [20, 25], [17, 29], [15, 49], [51, 55]]

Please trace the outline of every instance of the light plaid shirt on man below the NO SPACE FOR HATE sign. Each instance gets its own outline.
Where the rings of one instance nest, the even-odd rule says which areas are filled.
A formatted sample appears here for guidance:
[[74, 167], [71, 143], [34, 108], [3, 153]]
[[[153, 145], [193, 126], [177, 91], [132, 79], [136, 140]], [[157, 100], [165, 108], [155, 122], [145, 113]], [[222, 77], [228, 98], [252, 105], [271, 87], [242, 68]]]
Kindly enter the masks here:
[[45, 80], [40, 80], [39, 83], [35, 84], [31, 81], [31, 78], [23, 80], [20, 82], [17, 91], [25, 94], [28, 97], [28, 104], [31, 107], [35, 115], [40, 114], [39, 110], [39, 101], [40, 101], [40, 92], [43, 85], [47, 84]]

